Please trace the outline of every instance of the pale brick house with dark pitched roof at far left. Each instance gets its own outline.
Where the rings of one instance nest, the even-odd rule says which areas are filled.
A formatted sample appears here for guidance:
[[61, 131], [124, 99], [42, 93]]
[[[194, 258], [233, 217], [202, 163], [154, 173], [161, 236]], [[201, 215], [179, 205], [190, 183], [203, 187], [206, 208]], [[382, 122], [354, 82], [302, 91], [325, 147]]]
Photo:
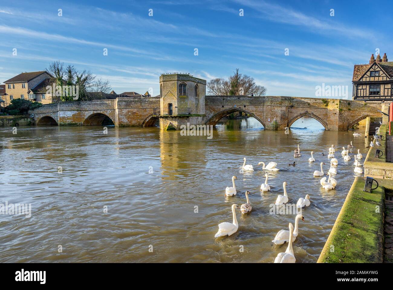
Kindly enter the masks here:
[[[36, 101], [34, 94], [29, 90], [37, 87], [45, 79], [50, 79], [52, 76], [46, 71], [39, 72], [22, 72], [17, 76], [4, 81], [6, 84], [6, 95], [5, 95], [5, 105], [9, 105], [13, 99], [30, 99]], [[40, 96], [37, 102], [42, 101], [42, 96]], [[45, 98], [43, 100], [46, 100]], [[44, 103], [47, 103], [44, 101]]]

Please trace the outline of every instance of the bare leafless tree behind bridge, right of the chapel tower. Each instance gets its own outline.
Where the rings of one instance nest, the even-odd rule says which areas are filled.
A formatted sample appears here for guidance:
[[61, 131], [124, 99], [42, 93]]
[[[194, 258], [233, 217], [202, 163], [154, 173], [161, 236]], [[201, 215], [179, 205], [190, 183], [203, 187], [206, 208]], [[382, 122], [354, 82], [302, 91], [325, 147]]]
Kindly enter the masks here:
[[266, 94], [266, 87], [257, 85], [254, 78], [239, 74], [239, 68], [233, 72], [233, 75], [228, 80], [217, 78], [211, 79], [207, 85], [208, 93], [213, 95], [248, 95], [248, 96], [264, 96]]

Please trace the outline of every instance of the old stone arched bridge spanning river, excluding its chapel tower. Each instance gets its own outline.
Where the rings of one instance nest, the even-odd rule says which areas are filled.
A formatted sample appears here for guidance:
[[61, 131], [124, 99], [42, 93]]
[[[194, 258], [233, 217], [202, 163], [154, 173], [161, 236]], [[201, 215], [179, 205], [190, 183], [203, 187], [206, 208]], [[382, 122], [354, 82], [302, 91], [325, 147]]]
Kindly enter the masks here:
[[[153, 126], [159, 116], [159, 97], [128, 97], [90, 102], [43, 105], [33, 113], [37, 125]], [[381, 116], [380, 102], [286, 96], [206, 96], [204, 124], [215, 125], [224, 116], [244, 112], [266, 129], [290, 127], [303, 116], [318, 120], [326, 130], [343, 131], [368, 116]], [[177, 116], [179, 118], [179, 116]], [[189, 116], [181, 116], [187, 118]]]

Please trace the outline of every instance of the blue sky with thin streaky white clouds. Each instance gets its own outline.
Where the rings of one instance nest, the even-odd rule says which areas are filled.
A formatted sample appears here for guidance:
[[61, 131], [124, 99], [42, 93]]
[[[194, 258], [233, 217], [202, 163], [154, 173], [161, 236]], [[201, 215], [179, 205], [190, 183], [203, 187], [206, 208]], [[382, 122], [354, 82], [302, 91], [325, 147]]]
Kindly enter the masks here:
[[0, 83], [61, 60], [117, 93], [157, 95], [161, 73], [209, 80], [239, 68], [267, 95], [315, 97], [325, 83], [348, 85], [351, 96], [354, 64], [376, 48], [393, 61], [392, 10], [368, 1], [0, 0]]

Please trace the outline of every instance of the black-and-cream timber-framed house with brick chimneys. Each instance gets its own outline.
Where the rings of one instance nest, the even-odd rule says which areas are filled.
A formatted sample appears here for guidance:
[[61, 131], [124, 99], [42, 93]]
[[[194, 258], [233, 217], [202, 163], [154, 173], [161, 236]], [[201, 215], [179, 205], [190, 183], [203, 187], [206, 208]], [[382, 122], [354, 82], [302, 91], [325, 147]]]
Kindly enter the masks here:
[[354, 65], [352, 85], [353, 100], [393, 100], [393, 61], [371, 54], [368, 64]]

